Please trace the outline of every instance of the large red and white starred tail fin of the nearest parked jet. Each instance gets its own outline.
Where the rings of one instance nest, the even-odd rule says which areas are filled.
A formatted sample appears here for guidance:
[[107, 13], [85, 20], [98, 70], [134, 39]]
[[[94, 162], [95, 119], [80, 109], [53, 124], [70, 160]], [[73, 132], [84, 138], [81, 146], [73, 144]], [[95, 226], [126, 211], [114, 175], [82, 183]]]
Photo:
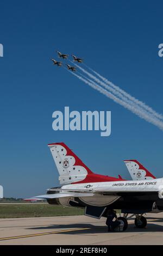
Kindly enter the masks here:
[[92, 174], [91, 170], [67, 147], [65, 143], [48, 144], [59, 172], [60, 184], [71, 184]]

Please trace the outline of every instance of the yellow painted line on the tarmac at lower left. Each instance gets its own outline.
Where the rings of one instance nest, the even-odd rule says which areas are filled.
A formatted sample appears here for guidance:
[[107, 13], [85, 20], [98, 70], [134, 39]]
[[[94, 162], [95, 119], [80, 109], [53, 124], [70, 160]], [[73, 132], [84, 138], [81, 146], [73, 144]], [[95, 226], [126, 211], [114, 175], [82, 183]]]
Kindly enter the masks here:
[[19, 238], [27, 238], [27, 237], [33, 237], [33, 236], [41, 236], [41, 235], [52, 235], [52, 234], [59, 234], [59, 233], [78, 231], [78, 230], [86, 230], [86, 229], [91, 229], [91, 228], [66, 229], [66, 230], [59, 230], [59, 231], [52, 231], [52, 232], [38, 233], [38, 234], [30, 234], [30, 235], [9, 236], [9, 237], [0, 238], [0, 241], [19, 239]]

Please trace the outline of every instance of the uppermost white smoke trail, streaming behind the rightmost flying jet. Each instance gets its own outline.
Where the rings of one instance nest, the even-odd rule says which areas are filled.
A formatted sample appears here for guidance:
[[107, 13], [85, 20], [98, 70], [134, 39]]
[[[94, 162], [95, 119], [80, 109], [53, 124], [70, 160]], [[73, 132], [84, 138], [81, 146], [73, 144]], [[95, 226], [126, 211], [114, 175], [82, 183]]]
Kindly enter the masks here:
[[[83, 65], [85, 65], [85, 64], [83, 63]], [[95, 75], [97, 75], [99, 78], [101, 78], [102, 81], [104, 81], [106, 84], [108, 84], [109, 86], [111, 86], [112, 88], [114, 88], [115, 90], [120, 92], [122, 95], [126, 96], [129, 100], [135, 102], [140, 107], [146, 109], [146, 111], [149, 111], [151, 114], [155, 115], [155, 117], [163, 120], [163, 115], [156, 112], [152, 107], [149, 107], [146, 103], [144, 103], [144, 102], [136, 99], [135, 97], [131, 96], [130, 94], [128, 94], [127, 92], [122, 90], [120, 87], [116, 86], [114, 83], [110, 82], [108, 79], [106, 79], [105, 77], [98, 74], [95, 70], [89, 68], [89, 66], [87, 66], [87, 65], [85, 65], [85, 66], [86, 66], [87, 69], [91, 70]]]

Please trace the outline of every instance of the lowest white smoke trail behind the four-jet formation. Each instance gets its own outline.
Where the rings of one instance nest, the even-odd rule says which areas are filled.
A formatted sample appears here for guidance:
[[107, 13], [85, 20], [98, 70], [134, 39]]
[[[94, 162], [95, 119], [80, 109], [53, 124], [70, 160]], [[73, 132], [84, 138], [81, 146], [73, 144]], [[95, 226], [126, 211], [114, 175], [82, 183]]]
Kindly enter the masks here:
[[[68, 70], [69, 71], [69, 70]], [[70, 71], [71, 72], [71, 71]], [[90, 87], [92, 87], [95, 90], [98, 90], [98, 92], [104, 94], [106, 97], [109, 97], [110, 99], [112, 99], [113, 101], [115, 101], [116, 103], [120, 104], [121, 106], [123, 106], [124, 108], [129, 109], [131, 112], [133, 112], [134, 114], [136, 114], [138, 117], [148, 121], [149, 123], [157, 126], [159, 129], [163, 130], [163, 122], [160, 120], [156, 120], [154, 118], [152, 118], [150, 115], [140, 111], [139, 109], [131, 106], [130, 104], [124, 102], [123, 100], [119, 99], [118, 97], [116, 97], [114, 94], [108, 92], [108, 90], [105, 90], [104, 88], [102, 88], [101, 86], [99, 86], [97, 83], [95, 82], [89, 82], [87, 81], [85, 78], [83, 78], [82, 76], [78, 76], [77, 74], [74, 74], [73, 72], [71, 72], [71, 74], [73, 74], [74, 76], [78, 77], [79, 80], [82, 80], [84, 83], [88, 84]]]

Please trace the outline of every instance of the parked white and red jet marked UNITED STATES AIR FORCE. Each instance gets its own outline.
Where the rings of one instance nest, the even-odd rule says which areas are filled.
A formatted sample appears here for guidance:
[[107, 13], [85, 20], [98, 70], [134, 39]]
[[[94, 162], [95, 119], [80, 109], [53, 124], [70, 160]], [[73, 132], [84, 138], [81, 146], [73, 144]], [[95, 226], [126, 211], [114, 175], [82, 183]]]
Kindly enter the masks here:
[[[120, 209], [126, 218], [135, 215], [136, 227], [147, 224], [142, 214], [163, 211], [163, 178], [124, 180], [95, 174], [65, 143], [48, 147], [59, 172], [60, 187], [28, 200], [47, 199], [49, 204], [84, 208], [85, 215], [94, 218], [105, 217], [108, 209]], [[143, 225], [139, 225], [140, 220]]]

